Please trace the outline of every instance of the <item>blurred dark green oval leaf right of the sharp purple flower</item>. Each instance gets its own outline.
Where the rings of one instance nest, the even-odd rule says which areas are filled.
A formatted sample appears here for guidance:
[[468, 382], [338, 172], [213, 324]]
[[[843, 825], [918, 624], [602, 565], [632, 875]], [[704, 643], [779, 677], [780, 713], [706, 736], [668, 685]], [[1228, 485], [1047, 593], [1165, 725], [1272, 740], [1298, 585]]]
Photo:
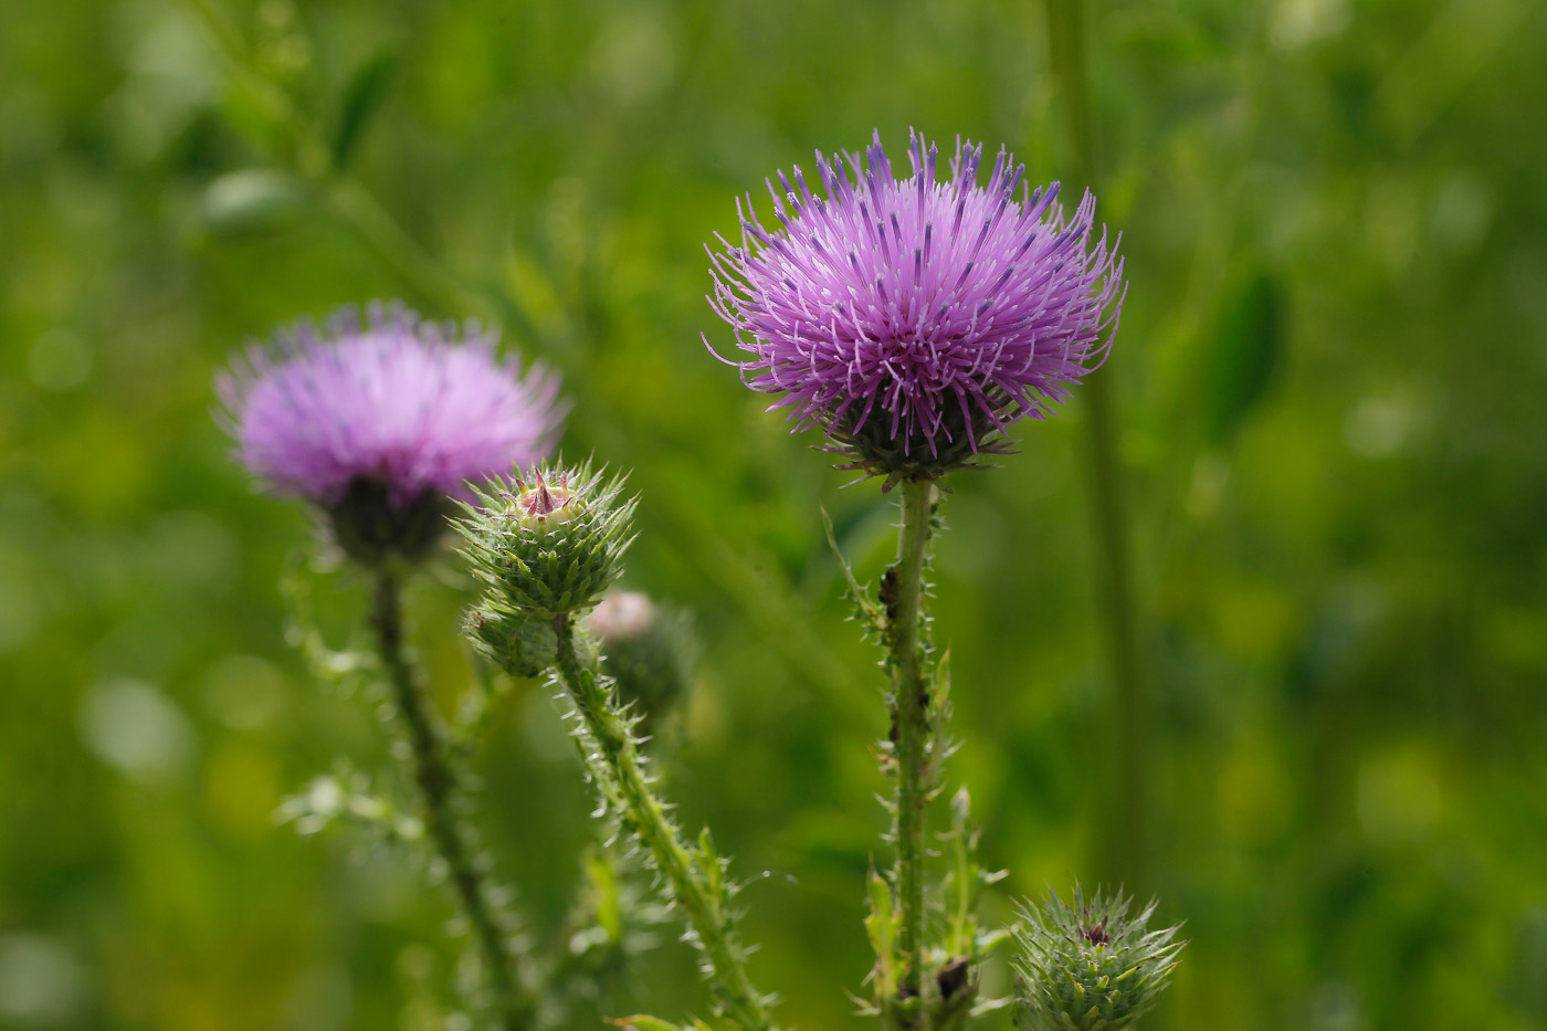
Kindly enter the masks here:
[[1286, 307], [1282, 285], [1267, 272], [1255, 272], [1227, 294], [1204, 368], [1204, 433], [1211, 446], [1228, 444], [1273, 385], [1282, 364]]

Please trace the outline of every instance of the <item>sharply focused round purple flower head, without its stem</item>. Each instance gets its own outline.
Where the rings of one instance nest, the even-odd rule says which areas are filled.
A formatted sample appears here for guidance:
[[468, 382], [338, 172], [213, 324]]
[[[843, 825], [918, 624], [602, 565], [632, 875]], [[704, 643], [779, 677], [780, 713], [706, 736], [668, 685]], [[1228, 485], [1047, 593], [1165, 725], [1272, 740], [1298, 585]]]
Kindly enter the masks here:
[[[817, 152], [826, 197], [797, 166], [769, 183], [780, 228], [736, 201], [741, 246], [710, 251], [715, 311], [736, 331], [753, 390], [783, 393], [795, 429], [821, 426], [854, 468], [939, 475], [1018, 418], [1044, 418], [1100, 365], [1117, 328], [1123, 263], [1095, 198], [1072, 218], [1058, 184], [1030, 190], [999, 150], [958, 141], [950, 178], [910, 133], [913, 175], [893, 178], [880, 133], [862, 159]], [[868, 164], [868, 167], [866, 167]], [[1016, 187], [1021, 195], [1016, 198]], [[707, 341], [705, 341], [707, 344]]]

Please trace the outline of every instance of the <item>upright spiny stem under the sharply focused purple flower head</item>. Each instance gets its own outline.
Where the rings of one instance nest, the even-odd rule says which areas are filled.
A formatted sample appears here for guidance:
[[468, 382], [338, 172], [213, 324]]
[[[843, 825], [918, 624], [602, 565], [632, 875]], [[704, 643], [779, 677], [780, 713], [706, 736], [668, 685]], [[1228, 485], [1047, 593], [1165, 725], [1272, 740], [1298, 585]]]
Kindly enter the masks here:
[[[891, 672], [891, 724], [896, 760], [896, 845], [893, 879], [902, 910], [902, 952], [908, 960], [903, 989], [920, 995], [925, 986], [924, 912], [924, 811], [930, 802], [928, 763], [930, 684], [924, 669], [924, 554], [930, 540], [930, 497], [934, 486], [924, 481], [902, 485], [902, 529], [897, 562], [886, 571], [882, 601], [888, 607]], [[920, 1012], [928, 1020], [928, 1006]]]

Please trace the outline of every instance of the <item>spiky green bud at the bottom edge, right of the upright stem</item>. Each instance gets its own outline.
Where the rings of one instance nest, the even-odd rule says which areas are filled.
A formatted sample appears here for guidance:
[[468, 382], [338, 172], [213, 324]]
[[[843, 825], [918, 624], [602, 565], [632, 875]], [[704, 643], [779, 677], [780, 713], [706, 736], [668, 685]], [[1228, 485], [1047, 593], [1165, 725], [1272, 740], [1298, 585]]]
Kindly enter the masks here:
[[1128, 915], [1128, 898], [1075, 885], [1074, 904], [1049, 893], [1043, 907], [1021, 906], [1015, 932], [1016, 1023], [1023, 1031], [1120, 1031], [1132, 1028], [1165, 989], [1179, 927], [1148, 930], [1156, 904]]

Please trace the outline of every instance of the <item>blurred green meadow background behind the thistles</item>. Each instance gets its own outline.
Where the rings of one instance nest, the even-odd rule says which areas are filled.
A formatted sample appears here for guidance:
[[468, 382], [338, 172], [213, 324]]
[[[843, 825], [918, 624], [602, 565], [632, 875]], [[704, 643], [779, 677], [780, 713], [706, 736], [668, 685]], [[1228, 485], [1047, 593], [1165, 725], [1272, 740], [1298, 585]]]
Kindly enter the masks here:
[[[278, 324], [402, 297], [501, 324], [563, 370], [566, 450], [634, 468], [630, 582], [705, 647], [668, 790], [755, 878], [781, 1017], [863, 1026], [885, 726], [818, 506], [866, 576], [893, 511], [704, 350], [702, 243], [876, 127], [1078, 186], [1047, 11], [210, 3], [224, 48], [198, 5], [0, 6], [0, 1025], [433, 1026], [444, 899], [272, 820], [336, 754], [390, 759], [285, 644], [309, 523], [251, 491], [210, 387]], [[1083, 396], [956, 477], [936, 615], [950, 780], [1010, 870], [985, 913], [1159, 893], [1191, 944], [1146, 1026], [1547, 1028], [1544, 53], [1530, 0], [1091, 12], [1142, 748]], [[308, 582], [342, 644], [360, 585]], [[413, 599], [447, 703], [463, 590], [447, 560]], [[594, 833], [546, 694], [478, 759], [538, 941]], [[606, 1012], [707, 1009], [661, 938]]]

